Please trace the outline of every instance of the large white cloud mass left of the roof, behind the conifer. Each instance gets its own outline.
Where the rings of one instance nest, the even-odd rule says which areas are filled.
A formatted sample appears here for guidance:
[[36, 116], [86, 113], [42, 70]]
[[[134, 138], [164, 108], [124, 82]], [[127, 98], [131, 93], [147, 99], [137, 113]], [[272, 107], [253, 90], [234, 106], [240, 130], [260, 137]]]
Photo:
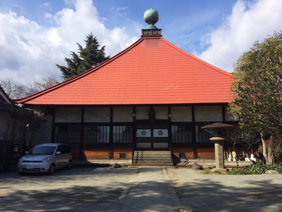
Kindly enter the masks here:
[[107, 29], [91, 0], [66, 1], [75, 9], [65, 8], [45, 15], [56, 23], [45, 27], [14, 12], [0, 13], [0, 78], [13, 77], [23, 83], [45, 75], [60, 78], [55, 63], [64, 65], [64, 57], [76, 51], [76, 42], [84, 45], [85, 35], [93, 32], [106, 54], [113, 56], [139, 37], [130, 37], [125, 27]]

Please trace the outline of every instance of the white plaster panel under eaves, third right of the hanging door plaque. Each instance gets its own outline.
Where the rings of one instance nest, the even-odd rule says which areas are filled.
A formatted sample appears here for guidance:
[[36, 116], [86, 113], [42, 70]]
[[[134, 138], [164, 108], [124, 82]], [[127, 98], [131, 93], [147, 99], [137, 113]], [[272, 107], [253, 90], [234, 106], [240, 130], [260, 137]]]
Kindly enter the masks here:
[[222, 107], [221, 106], [196, 106], [195, 121], [222, 121]]

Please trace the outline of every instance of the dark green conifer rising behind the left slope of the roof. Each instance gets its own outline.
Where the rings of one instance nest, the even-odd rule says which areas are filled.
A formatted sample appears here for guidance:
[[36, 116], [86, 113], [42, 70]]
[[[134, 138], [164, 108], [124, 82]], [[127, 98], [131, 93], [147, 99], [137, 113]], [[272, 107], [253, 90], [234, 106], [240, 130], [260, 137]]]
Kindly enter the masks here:
[[68, 67], [56, 64], [65, 80], [81, 74], [110, 58], [110, 56], [106, 57], [105, 55], [105, 46], [99, 49], [99, 42], [92, 32], [86, 36], [84, 41], [86, 44], [85, 48], [76, 43], [78, 45], [78, 54], [71, 51], [71, 58], [65, 57]]

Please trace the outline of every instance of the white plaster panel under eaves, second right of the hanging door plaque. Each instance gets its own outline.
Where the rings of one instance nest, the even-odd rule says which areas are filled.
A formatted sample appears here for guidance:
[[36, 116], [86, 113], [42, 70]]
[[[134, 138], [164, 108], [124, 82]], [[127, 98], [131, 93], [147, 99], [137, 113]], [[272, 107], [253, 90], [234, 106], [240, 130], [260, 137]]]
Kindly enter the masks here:
[[192, 122], [192, 107], [171, 107], [172, 122]]

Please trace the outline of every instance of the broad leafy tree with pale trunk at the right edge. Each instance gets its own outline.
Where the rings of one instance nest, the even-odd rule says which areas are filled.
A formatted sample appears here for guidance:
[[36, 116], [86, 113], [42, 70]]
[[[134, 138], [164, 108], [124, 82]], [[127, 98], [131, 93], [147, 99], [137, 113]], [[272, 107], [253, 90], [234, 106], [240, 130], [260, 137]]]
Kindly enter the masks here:
[[271, 164], [277, 141], [282, 149], [282, 31], [256, 42], [239, 57], [233, 74], [231, 113], [242, 128], [261, 134], [263, 156]]

